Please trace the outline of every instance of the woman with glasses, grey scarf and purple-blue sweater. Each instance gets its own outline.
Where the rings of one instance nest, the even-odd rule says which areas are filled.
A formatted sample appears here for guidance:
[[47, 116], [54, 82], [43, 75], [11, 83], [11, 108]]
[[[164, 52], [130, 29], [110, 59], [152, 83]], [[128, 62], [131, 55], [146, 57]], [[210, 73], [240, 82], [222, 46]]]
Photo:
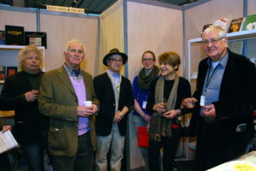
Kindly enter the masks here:
[[[155, 54], [153, 51], [147, 50], [142, 56], [143, 68], [134, 78], [132, 83], [132, 92], [134, 97], [134, 110], [132, 115], [132, 123], [135, 133], [138, 127], [146, 127], [150, 121], [150, 114], [146, 110], [146, 104], [149, 98], [149, 86], [152, 80], [158, 77], [159, 68], [155, 66]], [[145, 169], [149, 170], [148, 148], [140, 147], [145, 163]]]

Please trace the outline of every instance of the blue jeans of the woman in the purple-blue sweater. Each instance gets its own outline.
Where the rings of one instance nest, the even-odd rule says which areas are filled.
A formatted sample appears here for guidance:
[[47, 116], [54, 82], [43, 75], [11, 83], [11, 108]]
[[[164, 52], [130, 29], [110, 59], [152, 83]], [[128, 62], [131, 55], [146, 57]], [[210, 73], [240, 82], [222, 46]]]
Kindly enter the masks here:
[[[147, 121], [145, 121], [141, 116], [138, 116], [138, 115], [132, 115], [132, 123], [135, 129], [136, 135], [137, 135], [137, 127], [147, 127], [147, 124], [148, 124]], [[140, 147], [140, 150], [143, 155], [143, 160], [145, 162], [146, 170], [149, 170], [148, 148]]]

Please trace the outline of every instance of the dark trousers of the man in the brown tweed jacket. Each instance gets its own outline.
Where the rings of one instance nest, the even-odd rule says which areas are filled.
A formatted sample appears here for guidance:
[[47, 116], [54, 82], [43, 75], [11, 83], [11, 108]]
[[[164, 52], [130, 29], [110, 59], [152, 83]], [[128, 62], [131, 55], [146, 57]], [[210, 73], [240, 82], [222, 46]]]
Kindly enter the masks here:
[[94, 147], [90, 132], [78, 137], [78, 147], [75, 156], [52, 156], [54, 171], [93, 171]]

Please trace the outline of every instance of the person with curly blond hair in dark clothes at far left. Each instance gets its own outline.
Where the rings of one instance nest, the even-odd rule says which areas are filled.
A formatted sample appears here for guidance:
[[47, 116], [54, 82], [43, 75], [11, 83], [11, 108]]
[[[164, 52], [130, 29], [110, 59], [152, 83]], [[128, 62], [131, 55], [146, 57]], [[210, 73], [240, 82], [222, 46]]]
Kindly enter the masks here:
[[21, 144], [28, 170], [43, 171], [47, 151], [49, 121], [40, 115], [38, 97], [43, 72], [41, 50], [28, 45], [18, 54], [20, 72], [4, 81], [0, 95], [1, 110], [15, 110], [15, 139]]

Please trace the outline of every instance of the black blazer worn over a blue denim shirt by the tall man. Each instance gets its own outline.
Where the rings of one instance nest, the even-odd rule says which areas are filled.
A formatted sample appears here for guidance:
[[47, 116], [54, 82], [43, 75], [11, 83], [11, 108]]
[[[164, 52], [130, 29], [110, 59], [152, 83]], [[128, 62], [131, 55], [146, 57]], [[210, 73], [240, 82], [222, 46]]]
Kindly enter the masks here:
[[[246, 56], [241, 56], [228, 49], [229, 60], [225, 68], [219, 101], [214, 102], [216, 121], [225, 121], [225, 127], [235, 131], [237, 125], [247, 123], [253, 128], [253, 110], [256, 103], [256, 70]], [[207, 60], [202, 60], [198, 67], [197, 91], [193, 97], [198, 99], [191, 121], [191, 133], [196, 134], [200, 112], [200, 96], [207, 73]]]

